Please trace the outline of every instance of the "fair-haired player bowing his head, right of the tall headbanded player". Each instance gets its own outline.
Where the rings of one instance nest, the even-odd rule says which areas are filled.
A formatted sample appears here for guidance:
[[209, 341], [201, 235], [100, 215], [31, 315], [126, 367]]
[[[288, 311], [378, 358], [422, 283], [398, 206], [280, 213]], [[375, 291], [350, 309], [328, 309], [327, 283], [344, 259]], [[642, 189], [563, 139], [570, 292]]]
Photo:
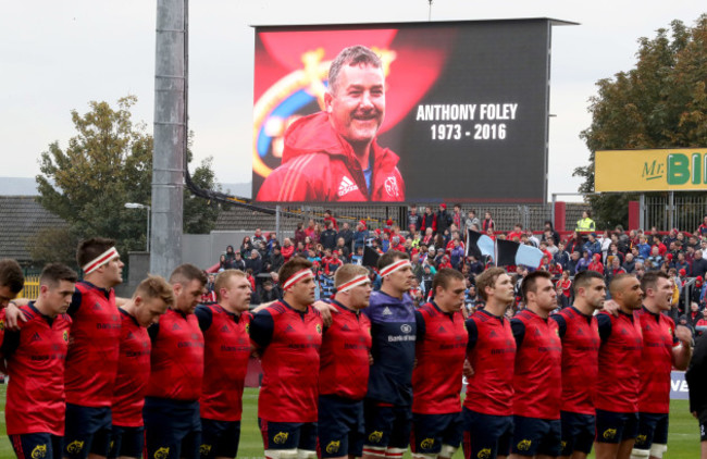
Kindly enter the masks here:
[[117, 309], [121, 313], [121, 345], [111, 405], [113, 427], [109, 459], [139, 458], [145, 446], [142, 407], [150, 380], [150, 337], [147, 327], [157, 323], [174, 305], [172, 286], [160, 276], [148, 276], [133, 297]]

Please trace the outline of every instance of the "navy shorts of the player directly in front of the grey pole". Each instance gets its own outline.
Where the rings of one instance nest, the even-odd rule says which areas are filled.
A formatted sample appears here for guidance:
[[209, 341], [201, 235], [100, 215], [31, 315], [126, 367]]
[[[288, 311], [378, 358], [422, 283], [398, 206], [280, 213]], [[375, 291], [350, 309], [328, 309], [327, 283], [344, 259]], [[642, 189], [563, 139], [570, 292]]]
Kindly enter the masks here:
[[199, 457], [201, 418], [198, 401], [146, 397], [142, 418], [146, 458]]

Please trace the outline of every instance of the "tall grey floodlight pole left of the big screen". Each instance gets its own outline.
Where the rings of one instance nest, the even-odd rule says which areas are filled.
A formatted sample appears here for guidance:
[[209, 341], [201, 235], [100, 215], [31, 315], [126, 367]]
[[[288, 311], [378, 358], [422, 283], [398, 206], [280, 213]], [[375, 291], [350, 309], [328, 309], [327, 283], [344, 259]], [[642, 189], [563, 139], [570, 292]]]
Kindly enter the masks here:
[[182, 263], [186, 17], [187, 0], [157, 1], [150, 272], [164, 277]]

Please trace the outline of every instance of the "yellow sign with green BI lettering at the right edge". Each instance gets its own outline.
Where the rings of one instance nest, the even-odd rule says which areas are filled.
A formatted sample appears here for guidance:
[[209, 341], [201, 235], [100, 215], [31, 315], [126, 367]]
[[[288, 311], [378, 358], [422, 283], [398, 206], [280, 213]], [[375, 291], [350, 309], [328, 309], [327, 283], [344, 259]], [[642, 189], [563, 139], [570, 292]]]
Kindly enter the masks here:
[[707, 148], [604, 150], [594, 159], [597, 193], [707, 189]]

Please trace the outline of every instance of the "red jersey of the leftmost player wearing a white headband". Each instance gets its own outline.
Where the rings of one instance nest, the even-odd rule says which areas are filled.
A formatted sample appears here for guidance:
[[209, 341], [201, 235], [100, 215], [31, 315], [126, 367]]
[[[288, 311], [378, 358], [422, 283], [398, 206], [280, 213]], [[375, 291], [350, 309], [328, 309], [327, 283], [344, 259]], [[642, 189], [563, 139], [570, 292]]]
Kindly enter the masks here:
[[69, 313], [73, 322], [64, 376], [66, 402], [110, 407], [117, 374], [122, 322], [115, 306], [115, 291], [77, 282]]

